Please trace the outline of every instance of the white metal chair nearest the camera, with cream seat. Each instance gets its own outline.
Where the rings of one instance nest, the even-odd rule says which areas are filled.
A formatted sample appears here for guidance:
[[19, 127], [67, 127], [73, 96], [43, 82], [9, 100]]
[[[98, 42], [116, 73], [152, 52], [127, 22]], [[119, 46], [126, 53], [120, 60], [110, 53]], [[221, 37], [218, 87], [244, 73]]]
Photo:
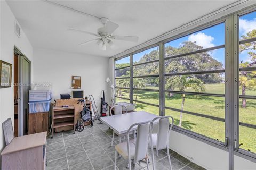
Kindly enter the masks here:
[[[136, 139], [129, 140], [129, 134], [132, 129], [137, 126], [137, 137]], [[138, 162], [141, 159], [146, 159], [147, 168], [149, 169], [148, 165], [148, 144], [149, 139], [151, 139], [151, 134], [153, 130], [153, 122], [146, 121], [141, 123], [135, 123], [130, 126], [126, 133], [127, 141], [123, 143], [119, 143], [115, 146], [115, 170], [116, 170], [116, 159], [117, 159], [117, 152], [126, 160], [128, 160], [128, 166], [131, 170], [131, 160], [133, 160], [133, 164]], [[151, 146], [153, 148], [153, 146]], [[152, 151], [152, 156], [153, 156]], [[153, 161], [153, 170], [154, 170], [154, 159]]]

